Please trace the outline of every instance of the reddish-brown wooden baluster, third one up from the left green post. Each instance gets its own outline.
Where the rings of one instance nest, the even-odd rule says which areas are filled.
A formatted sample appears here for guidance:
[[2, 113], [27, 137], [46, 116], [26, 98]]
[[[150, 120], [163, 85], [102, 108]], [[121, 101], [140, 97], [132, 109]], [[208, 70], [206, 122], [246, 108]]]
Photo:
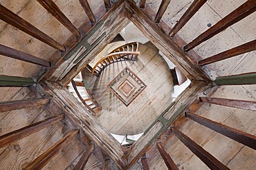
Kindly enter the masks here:
[[57, 7], [52, 0], [37, 0], [50, 14], [62, 23], [72, 34], [80, 36], [79, 30], [69, 21], [65, 14]]

